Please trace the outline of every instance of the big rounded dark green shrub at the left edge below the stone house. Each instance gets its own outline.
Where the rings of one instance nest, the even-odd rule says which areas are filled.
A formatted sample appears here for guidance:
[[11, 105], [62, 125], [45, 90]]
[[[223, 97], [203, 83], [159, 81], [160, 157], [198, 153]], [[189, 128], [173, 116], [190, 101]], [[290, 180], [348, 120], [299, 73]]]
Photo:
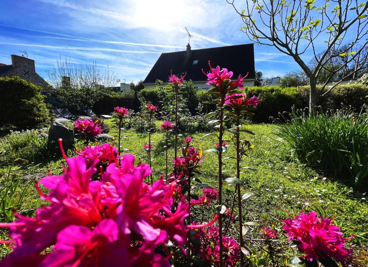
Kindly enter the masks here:
[[18, 76], [0, 78], [0, 127], [32, 129], [49, 117], [41, 87]]

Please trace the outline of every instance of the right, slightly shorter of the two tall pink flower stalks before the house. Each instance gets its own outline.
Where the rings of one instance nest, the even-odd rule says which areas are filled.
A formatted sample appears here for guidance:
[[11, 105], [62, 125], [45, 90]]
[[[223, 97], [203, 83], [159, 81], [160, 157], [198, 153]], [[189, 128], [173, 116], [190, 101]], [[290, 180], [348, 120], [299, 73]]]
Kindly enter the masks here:
[[[246, 77], [246, 76], [245, 76]], [[245, 78], [243, 77], [243, 78]], [[241, 79], [243, 79], [241, 78]], [[240, 89], [243, 89], [243, 81], [239, 82]], [[256, 96], [253, 96], [251, 99], [247, 100], [247, 95], [245, 92], [236, 93], [236, 94], [229, 94], [226, 96], [225, 106], [224, 109], [227, 110], [225, 113], [226, 116], [232, 117], [235, 120], [235, 129], [229, 129], [228, 131], [233, 134], [234, 145], [236, 147], [236, 188], [237, 188], [237, 195], [238, 195], [238, 210], [239, 210], [239, 240], [240, 240], [240, 247], [243, 247], [243, 217], [242, 217], [242, 207], [241, 207], [241, 200], [242, 196], [240, 193], [240, 161], [241, 157], [245, 154], [246, 150], [252, 149], [254, 146], [251, 146], [249, 141], [242, 140], [242, 145], [240, 144], [240, 128], [242, 127], [241, 119], [242, 118], [251, 118], [254, 113], [250, 112], [250, 110], [255, 110], [256, 105], [258, 102], [261, 101]], [[243, 122], [246, 124], [246, 122]], [[252, 133], [251, 131], [247, 130], [247, 133]], [[247, 145], [247, 146], [245, 146]], [[250, 196], [245, 195], [245, 197]], [[234, 198], [235, 201], [235, 198]], [[234, 203], [233, 203], [234, 204]], [[244, 267], [244, 258], [243, 253], [240, 252], [240, 266]]]

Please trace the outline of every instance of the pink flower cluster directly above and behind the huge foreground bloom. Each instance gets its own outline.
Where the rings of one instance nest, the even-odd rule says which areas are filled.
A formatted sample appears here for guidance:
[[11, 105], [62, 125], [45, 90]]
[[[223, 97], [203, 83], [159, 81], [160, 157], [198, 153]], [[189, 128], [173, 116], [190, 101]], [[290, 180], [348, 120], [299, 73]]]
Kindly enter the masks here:
[[93, 164], [97, 167], [100, 165], [108, 165], [120, 158], [116, 147], [111, 146], [109, 143], [100, 146], [86, 146], [82, 150], [76, 152], [79, 156], [84, 158], [88, 168]]

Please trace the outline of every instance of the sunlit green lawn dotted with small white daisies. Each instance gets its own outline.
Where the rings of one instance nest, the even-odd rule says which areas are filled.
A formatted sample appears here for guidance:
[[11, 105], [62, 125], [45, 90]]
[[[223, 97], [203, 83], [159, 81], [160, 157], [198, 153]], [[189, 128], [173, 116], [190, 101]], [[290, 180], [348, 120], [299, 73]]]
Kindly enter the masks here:
[[[106, 120], [110, 126], [115, 127], [111, 120]], [[159, 125], [159, 122], [156, 122]], [[318, 209], [327, 208], [326, 215], [332, 217], [336, 215], [335, 223], [342, 228], [345, 237], [355, 234], [356, 237], [348, 239], [349, 247], [354, 247], [357, 252], [358, 260], [363, 264], [368, 263], [367, 247], [368, 247], [368, 205], [363, 200], [364, 195], [353, 191], [350, 187], [344, 186], [342, 182], [327, 177], [323, 179], [323, 175], [319, 175], [314, 170], [305, 165], [288, 161], [287, 153], [282, 147], [279, 147], [279, 141], [275, 140], [276, 136], [272, 134], [272, 129], [266, 124], [254, 124], [246, 126], [247, 129], [254, 132], [255, 136], [248, 137], [252, 144], [255, 145], [248, 156], [245, 157], [241, 167], [252, 167], [257, 172], [245, 170], [241, 173], [241, 179], [244, 182], [242, 187], [243, 194], [252, 192], [251, 198], [243, 201], [243, 222], [256, 222], [257, 226], [250, 226], [251, 230], [247, 233], [246, 238], [259, 238], [259, 229], [266, 226], [275, 225], [281, 230], [280, 220], [287, 217], [286, 211], [290, 213], [298, 213], [304, 209], [304, 204], [309, 211], [317, 211]], [[117, 136], [116, 127], [112, 128], [110, 135]], [[230, 133], [226, 133], [230, 134]], [[208, 136], [201, 139], [203, 133], [192, 135], [194, 143], [204, 150], [215, 147], [216, 140], [214, 136]], [[141, 158], [142, 162], [146, 162], [146, 151], [143, 145], [148, 142], [148, 134], [137, 134], [133, 131], [127, 131], [123, 136], [128, 136], [121, 142], [123, 148], [127, 148], [127, 153], [134, 154], [137, 159]], [[226, 136], [224, 137], [226, 138]], [[152, 161], [153, 177], [159, 179], [165, 170], [164, 148], [160, 144], [163, 140], [163, 133], [153, 133], [152, 140], [155, 148], [153, 149]], [[1, 142], [1, 141], [0, 141]], [[171, 159], [174, 150], [169, 151]], [[203, 163], [199, 169], [201, 175], [197, 177], [204, 183], [208, 183], [213, 187], [217, 187], [217, 155], [214, 153], [204, 153]], [[224, 157], [234, 157], [235, 151], [233, 147], [228, 147]], [[49, 169], [52, 174], [60, 174], [61, 159], [52, 157], [51, 161], [41, 162], [39, 165], [28, 165], [28, 167], [20, 166], [13, 168], [13, 175], [23, 176], [28, 173], [47, 172]], [[37, 162], [35, 162], [37, 164]], [[232, 171], [235, 171], [235, 160], [229, 159], [224, 162], [225, 178], [232, 177]], [[7, 171], [7, 170], [6, 170]], [[5, 169], [0, 169], [0, 175], [5, 173]], [[21, 185], [22, 186], [22, 185]], [[232, 194], [235, 185], [224, 182], [223, 202], [231, 208]], [[42, 201], [39, 199], [36, 191], [31, 188], [25, 195], [21, 209], [36, 209]], [[237, 215], [237, 209], [235, 208]], [[230, 226], [230, 234], [236, 236], [236, 225]], [[4, 231], [0, 232], [3, 237]], [[249, 243], [245, 245], [250, 245]], [[1, 253], [5, 253], [1, 249]], [[364, 262], [363, 262], [364, 261]]]

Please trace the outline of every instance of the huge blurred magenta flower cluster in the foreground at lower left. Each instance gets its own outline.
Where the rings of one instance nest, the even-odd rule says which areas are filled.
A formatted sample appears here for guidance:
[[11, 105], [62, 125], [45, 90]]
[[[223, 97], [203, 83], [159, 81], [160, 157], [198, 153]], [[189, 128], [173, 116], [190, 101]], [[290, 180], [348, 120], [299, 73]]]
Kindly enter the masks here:
[[[134, 156], [125, 154], [109, 164], [100, 180], [91, 181], [95, 163], [84, 157], [68, 158], [61, 176], [40, 181], [48, 195], [36, 188], [49, 206], [37, 209], [36, 218], [15, 213], [19, 219], [0, 224], [10, 227], [13, 252], [4, 266], [170, 266], [162, 246], [169, 240], [178, 246], [187, 240], [184, 218], [189, 205], [179, 202], [172, 209], [176, 182], [162, 179], [144, 183], [151, 174], [147, 164], [134, 166]], [[53, 246], [51, 253], [46, 248]], [[157, 253], [161, 250], [161, 253]]]

